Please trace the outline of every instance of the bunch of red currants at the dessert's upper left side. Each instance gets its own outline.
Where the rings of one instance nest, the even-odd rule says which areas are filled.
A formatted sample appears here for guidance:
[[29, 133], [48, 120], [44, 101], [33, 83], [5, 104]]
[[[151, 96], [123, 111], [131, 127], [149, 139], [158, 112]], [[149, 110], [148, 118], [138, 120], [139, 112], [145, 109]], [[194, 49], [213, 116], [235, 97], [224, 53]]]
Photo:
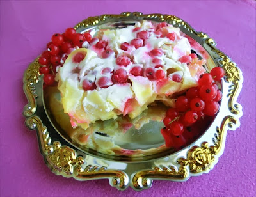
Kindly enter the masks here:
[[[76, 33], [73, 28], [67, 28], [65, 33], [55, 33], [52, 35], [52, 41], [47, 43], [46, 51], [42, 52], [38, 62], [42, 65], [40, 73], [44, 74], [44, 83], [47, 85], [54, 84], [54, 75], [56, 67], [62, 66], [67, 59], [68, 54], [77, 47], [81, 48], [84, 42], [90, 43], [92, 36], [90, 33]], [[81, 61], [82, 57], [76, 57]]]

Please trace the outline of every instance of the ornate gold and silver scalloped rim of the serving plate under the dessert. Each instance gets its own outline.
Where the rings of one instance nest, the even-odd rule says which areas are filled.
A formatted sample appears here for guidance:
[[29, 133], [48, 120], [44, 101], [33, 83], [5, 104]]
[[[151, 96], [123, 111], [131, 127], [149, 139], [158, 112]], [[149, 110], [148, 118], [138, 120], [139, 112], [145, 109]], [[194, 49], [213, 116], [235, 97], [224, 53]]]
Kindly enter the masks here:
[[[241, 70], [227, 55], [216, 49], [212, 38], [195, 31], [182, 19], [173, 15], [125, 12], [120, 15], [89, 17], [75, 28], [78, 32], [96, 32], [104, 28], [120, 28], [138, 20], [167, 22], [179, 27], [191, 42], [195, 42], [195, 51], [204, 56], [207, 70], [217, 66], [225, 69], [226, 75], [220, 84], [223, 99], [219, 113], [204, 134], [178, 152], [173, 152], [172, 148], [157, 149], [159, 141], [154, 141], [156, 146], [148, 148], [146, 155], [128, 157], [101, 153], [92, 148], [81, 147], [65, 136], [57, 118], [52, 116], [47, 90], [43, 90], [40, 65], [35, 59], [24, 73], [24, 92], [28, 104], [24, 107], [23, 114], [27, 127], [36, 130], [45, 163], [57, 175], [77, 180], [108, 178], [109, 184], [117, 189], [124, 190], [130, 186], [138, 191], [150, 188], [153, 180], [186, 181], [191, 176], [208, 173], [213, 168], [223, 154], [227, 130], [239, 127], [242, 107], [237, 103], [237, 97], [243, 83]], [[149, 141], [145, 144], [147, 143]], [[160, 143], [163, 145], [164, 141]], [[140, 148], [140, 144], [138, 147]]]

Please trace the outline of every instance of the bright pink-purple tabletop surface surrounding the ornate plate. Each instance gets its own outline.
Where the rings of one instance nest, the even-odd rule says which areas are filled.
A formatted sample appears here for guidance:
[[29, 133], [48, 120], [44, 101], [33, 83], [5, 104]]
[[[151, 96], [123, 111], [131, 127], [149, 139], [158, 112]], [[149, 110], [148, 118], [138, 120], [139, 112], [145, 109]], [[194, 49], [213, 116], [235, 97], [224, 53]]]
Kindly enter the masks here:
[[[35, 131], [24, 125], [22, 75], [49, 42], [86, 17], [140, 11], [177, 15], [216, 40], [243, 70], [241, 127], [228, 132], [224, 154], [188, 182], [154, 181], [140, 193], [108, 180], [79, 182], [44, 164]], [[255, 1], [0, 1], [0, 196], [253, 196], [255, 195]]]

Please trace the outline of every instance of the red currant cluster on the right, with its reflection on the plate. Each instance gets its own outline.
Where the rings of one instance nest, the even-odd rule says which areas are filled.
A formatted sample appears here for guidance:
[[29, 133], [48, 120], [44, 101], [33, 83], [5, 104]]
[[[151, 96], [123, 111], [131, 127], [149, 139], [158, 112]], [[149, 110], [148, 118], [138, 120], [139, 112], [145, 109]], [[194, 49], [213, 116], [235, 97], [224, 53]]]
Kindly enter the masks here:
[[[214, 116], [220, 109], [222, 98], [221, 90], [214, 83], [225, 75], [221, 67], [212, 68], [210, 73], [200, 75], [198, 87], [189, 88], [186, 95], [177, 98], [175, 108], [166, 111], [163, 122], [165, 127], [161, 129], [167, 147], [177, 147], [186, 144], [184, 131], [188, 127], [203, 120], [205, 116]], [[186, 137], [186, 135], [185, 135]], [[191, 136], [189, 137], [191, 138]]]

